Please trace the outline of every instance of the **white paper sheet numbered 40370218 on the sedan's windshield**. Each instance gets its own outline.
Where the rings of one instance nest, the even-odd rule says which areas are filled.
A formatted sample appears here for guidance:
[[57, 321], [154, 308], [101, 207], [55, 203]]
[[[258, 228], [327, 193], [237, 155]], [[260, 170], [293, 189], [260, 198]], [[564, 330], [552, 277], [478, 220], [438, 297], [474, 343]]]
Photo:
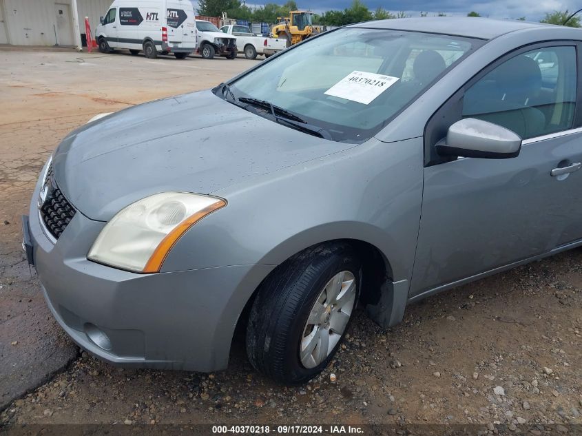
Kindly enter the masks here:
[[398, 77], [354, 71], [335, 83], [325, 94], [369, 105], [397, 81]]

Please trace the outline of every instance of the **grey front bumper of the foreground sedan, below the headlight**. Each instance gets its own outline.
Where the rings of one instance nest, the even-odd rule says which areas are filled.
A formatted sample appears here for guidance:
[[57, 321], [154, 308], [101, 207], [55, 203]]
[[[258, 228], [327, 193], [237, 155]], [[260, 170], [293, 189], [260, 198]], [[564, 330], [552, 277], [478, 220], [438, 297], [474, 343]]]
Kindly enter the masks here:
[[238, 316], [273, 269], [241, 265], [136, 274], [87, 260], [104, 222], [78, 213], [56, 243], [42, 225], [33, 200], [28, 243], [54, 318], [79, 346], [113, 364], [226, 368]]

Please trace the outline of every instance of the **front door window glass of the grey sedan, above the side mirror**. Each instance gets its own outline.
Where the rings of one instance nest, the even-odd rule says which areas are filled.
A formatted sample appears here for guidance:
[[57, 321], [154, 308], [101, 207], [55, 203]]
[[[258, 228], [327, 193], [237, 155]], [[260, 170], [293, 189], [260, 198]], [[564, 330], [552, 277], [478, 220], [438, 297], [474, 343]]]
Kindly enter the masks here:
[[551, 47], [519, 54], [465, 92], [463, 118], [506, 127], [521, 138], [572, 128], [576, 49]]

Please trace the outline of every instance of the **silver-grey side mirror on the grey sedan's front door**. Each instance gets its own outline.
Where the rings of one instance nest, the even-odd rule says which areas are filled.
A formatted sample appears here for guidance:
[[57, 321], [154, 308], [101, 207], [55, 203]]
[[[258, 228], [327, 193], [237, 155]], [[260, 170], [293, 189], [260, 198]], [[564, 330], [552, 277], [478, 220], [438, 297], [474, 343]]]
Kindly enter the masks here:
[[500, 125], [465, 118], [450, 126], [435, 148], [440, 156], [508, 159], [519, 156], [521, 138]]

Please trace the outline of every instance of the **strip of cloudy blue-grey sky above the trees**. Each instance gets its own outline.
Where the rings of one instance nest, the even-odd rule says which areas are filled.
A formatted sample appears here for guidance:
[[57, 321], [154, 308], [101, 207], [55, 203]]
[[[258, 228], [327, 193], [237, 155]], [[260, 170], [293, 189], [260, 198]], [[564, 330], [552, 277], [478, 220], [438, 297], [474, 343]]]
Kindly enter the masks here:
[[[261, 5], [264, 3], [284, 3], [286, 0], [247, 0], [247, 5]], [[194, 1], [193, 1], [194, 3]], [[300, 8], [323, 12], [330, 9], [344, 9], [349, 7], [351, 0], [297, 0]], [[428, 11], [433, 14], [446, 12], [453, 15], [466, 15], [475, 10], [481, 15], [492, 18], [526, 17], [528, 21], [539, 21], [545, 12], [553, 10], [574, 10], [582, 8], [582, 1], [575, 0], [488, 0], [488, 1], [462, 1], [462, 0], [364, 0], [370, 9], [378, 6], [386, 10], [406, 11], [410, 15], [419, 15], [420, 11]], [[196, 4], [195, 4], [196, 7]]]

